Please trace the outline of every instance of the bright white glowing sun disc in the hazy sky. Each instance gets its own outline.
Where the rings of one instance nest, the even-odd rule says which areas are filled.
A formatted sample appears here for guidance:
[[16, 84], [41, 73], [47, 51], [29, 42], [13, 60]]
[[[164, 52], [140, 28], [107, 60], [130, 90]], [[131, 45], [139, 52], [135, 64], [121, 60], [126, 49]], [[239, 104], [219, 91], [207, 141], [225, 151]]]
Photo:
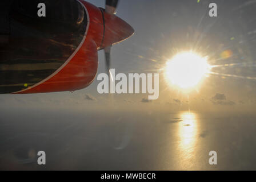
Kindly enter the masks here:
[[209, 70], [206, 57], [194, 52], [182, 52], [167, 61], [165, 77], [171, 85], [189, 89], [197, 86]]

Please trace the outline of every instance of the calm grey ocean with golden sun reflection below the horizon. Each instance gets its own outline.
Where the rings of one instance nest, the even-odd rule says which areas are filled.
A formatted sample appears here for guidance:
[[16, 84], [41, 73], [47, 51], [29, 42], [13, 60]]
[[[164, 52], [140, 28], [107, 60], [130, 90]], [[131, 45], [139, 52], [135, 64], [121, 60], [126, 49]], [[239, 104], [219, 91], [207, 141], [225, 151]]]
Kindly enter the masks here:
[[[252, 170], [256, 115], [5, 111], [0, 169]], [[46, 165], [37, 152], [46, 152]], [[209, 152], [217, 152], [217, 165]]]

